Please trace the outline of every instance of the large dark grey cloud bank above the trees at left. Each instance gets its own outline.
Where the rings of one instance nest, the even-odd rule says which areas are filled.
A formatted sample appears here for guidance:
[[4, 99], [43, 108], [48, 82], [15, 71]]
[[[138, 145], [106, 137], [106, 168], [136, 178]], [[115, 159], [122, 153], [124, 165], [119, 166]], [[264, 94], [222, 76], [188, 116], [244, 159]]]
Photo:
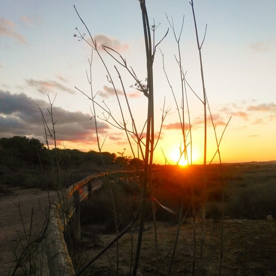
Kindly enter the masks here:
[[[49, 103], [34, 100], [26, 94], [11, 94], [0, 90], [0, 129], [1, 137], [26, 136], [38, 138], [44, 142], [42, 110], [50, 126], [50, 115], [47, 112]], [[95, 122], [91, 116], [81, 112], [70, 112], [53, 106], [53, 117], [56, 121], [57, 141], [72, 141], [85, 143], [96, 141]], [[97, 124], [99, 134], [106, 135], [109, 126], [104, 122]]]

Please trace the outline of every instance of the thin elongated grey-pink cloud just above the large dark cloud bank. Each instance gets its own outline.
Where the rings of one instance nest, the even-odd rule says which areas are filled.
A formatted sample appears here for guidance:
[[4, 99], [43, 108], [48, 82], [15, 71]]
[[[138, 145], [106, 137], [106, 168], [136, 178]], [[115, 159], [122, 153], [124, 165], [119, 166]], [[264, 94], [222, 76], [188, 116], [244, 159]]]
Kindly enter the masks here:
[[33, 79], [28, 79], [25, 81], [29, 86], [36, 88], [36, 90], [42, 94], [45, 94], [45, 91], [48, 92], [49, 89], [54, 92], [55, 90], [62, 90], [70, 94], [75, 94], [74, 90], [68, 87], [65, 87], [64, 85], [56, 81], [50, 81], [50, 80], [43, 81], [43, 80], [33, 80]]

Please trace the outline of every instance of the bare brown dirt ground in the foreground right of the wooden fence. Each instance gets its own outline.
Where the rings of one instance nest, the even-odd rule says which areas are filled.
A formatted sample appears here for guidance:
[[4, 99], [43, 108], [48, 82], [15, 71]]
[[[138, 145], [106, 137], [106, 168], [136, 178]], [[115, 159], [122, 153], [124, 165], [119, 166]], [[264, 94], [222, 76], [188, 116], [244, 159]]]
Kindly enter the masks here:
[[[99, 229], [98, 229], [99, 230]], [[159, 275], [166, 275], [175, 241], [177, 226], [158, 223], [159, 240]], [[82, 229], [83, 260], [93, 257], [112, 240], [111, 235], [95, 235], [95, 226]], [[192, 275], [192, 234], [190, 220], [182, 226], [175, 253], [171, 275]], [[196, 275], [199, 266], [199, 248], [201, 237], [201, 221], [196, 223]], [[132, 246], [131, 235], [126, 234], [119, 242], [120, 273], [125, 275], [130, 270]], [[221, 223], [207, 220], [204, 243], [204, 256], [200, 275], [215, 276], [219, 274]], [[133, 234], [136, 244], [137, 232]], [[86, 246], [85, 246], [86, 243]], [[271, 276], [276, 275], [276, 222], [267, 220], [225, 220], [223, 239], [222, 275], [229, 276]], [[135, 246], [134, 246], [135, 250]], [[88, 257], [89, 256], [89, 257]], [[145, 225], [139, 261], [139, 275], [156, 275], [155, 246], [152, 223]], [[113, 268], [113, 269], [112, 269]], [[94, 263], [86, 275], [112, 275], [116, 268], [116, 247], [114, 246]], [[97, 270], [108, 270], [108, 274], [99, 274]], [[95, 272], [95, 274], [93, 274]]]

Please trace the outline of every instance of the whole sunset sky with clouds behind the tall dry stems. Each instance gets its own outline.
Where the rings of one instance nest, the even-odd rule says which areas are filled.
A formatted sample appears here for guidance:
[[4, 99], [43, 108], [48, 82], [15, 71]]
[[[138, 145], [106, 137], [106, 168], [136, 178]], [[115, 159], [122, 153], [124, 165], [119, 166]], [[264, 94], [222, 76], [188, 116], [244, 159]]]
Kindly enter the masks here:
[[[85, 34], [90, 41], [73, 5], [97, 42], [118, 91], [124, 119], [99, 55], [79, 38]], [[192, 150], [189, 163], [201, 163], [203, 90], [191, 5], [188, 0], [147, 0], [146, 6], [150, 24], [157, 26], [155, 45], [169, 28], [154, 55], [154, 162], [164, 164], [166, 159], [174, 164], [179, 148], [183, 148], [177, 112], [177, 106], [178, 110], [182, 106], [178, 49], [169, 22], [173, 20], [178, 37], [184, 17], [179, 40], [181, 64], [193, 90], [186, 85], [184, 120], [188, 126], [188, 107], [192, 137], [190, 143], [187, 135], [189, 156]], [[276, 1], [194, 0], [194, 8], [200, 43], [207, 24], [201, 48], [209, 103], [207, 161], [216, 152], [216, 136], [220, 140], [224, 130], [220, 142], [222, 162], [276, 160]], [[147, 98], [131, 87], [135, 86], [134, 79], [101, 44], [119, 52], [144, 82], [146, 60], [138, 0], [1, 0], [0, 137], [33, 137], [45, 144], [41, 111], [52, 130], [48, 112], [52, 104], [58, 147], [98, 151], [93, 102], [89, 99], [93, 95], [101, 150], [134, 157], [120, 129], [124, 120], [129, 130], [133, 128], [123, 89], [142, 141]], [[87, 73], [91, 57], [90, 86]], [[137, 145], [132, 144], [136, 150]], [[216, 155], [213, 162], [218, 160]]]

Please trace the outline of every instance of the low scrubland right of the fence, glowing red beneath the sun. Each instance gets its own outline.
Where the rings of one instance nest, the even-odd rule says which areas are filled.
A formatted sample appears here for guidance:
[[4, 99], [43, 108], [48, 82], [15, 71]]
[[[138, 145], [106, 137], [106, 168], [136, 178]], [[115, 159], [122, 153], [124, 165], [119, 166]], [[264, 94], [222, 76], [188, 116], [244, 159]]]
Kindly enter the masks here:
[[[222, 164], [223, 176], [219, 164], [207, 167], [206, 219], [221, 219], [222, 187], [224, 181], [224, 215], [230, 219], [266, 219], [268, 215], [276, 218], [276, 162], [250, 162]], [[176, 223], [179, 217], [183, 196], [183, 216], [191, 213], [191, 187], [195, 192], [196, 217], [201, 217], [203, 204], [203, 166], [192, 165], [159, 166], [152, 175], [154, 197], [164, 206], [176, 213], [171, 214], [158, 207], [156, 218], [159, 221]], [[120, 184], [120, 185], [119, 185]], [[130, 189], [131, 186], [133, 189]], [[122, 227], [133, 218], [133, 210], [138, 206], [140, 194], [136, 184], [114, 184], [116, 210], [120, 214]], [[106, 231], [114, 230], [111, 201], [106, 190], [95, 192], [93, 201], [81, 202], [82, 223], [106, 223]], [[125, 206], [129, 208], [125, 208]], [[152, 219], [150, 202], [147, 202], [146, 218]]]

